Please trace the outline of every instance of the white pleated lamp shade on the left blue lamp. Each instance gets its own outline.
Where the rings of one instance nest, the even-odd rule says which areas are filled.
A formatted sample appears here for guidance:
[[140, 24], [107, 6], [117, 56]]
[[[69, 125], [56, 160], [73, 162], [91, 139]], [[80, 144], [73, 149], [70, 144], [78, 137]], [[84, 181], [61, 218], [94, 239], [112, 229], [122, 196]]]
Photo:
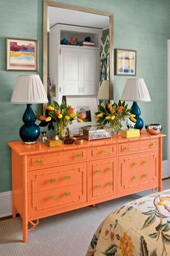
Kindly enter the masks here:
[[47, 103], [48, 98], [38, 74], [20, 75], [12, 93], [11, 103]]

